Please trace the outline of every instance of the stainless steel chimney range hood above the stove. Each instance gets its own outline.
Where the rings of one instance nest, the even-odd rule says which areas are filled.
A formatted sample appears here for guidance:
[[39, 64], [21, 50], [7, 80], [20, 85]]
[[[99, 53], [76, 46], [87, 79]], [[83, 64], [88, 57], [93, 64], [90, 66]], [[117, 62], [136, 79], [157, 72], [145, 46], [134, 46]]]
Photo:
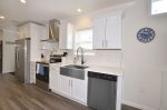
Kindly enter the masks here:
[[59, 41], [59, 26], [60, 21], [57, 19], [52, 19], [49, 21], [49, 38], [42, 41]]

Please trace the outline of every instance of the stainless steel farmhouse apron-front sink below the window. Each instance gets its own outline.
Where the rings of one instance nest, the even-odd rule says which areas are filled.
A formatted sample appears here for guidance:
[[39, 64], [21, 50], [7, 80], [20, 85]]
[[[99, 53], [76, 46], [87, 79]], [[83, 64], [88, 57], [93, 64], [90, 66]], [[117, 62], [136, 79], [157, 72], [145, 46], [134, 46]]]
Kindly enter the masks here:
[[88, 68], [88, 67], [78, 66], [78, 64], [63, 66], [63, 67], [60, 67], [60, 74], [85, 80], [85, 69], [86, 68]]

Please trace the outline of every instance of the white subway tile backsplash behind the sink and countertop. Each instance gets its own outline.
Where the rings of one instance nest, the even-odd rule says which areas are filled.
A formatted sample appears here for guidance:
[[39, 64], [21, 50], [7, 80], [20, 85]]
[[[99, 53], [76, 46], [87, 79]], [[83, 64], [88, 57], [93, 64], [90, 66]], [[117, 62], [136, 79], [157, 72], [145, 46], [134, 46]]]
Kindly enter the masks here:
[[[73, 51], [68, 50], [68, 63], [73, 62]], [[121, 50], [95, 50], [95, 56], [85, 56], [86, 64], [98, 67], [121, 67]]]

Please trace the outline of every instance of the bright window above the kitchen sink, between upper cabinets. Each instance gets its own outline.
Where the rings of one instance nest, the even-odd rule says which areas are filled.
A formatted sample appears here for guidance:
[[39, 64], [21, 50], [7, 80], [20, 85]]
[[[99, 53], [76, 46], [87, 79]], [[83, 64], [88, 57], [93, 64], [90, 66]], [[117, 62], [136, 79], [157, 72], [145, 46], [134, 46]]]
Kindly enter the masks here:
[[75, 49], [82, 47], [85, 50], [92, 50], [92, 29], [77, 30]]

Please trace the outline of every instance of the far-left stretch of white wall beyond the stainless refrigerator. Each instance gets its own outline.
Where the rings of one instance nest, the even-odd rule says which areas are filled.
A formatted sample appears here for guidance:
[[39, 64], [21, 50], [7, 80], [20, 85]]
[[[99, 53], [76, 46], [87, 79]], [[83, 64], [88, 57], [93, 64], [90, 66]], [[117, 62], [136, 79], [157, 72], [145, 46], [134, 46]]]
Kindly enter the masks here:
[[2, 27], [2, 73], [14, 72], [14, 46], [8, 44], [6, 41], [14, 41], [17, 39], [16, 27]]

